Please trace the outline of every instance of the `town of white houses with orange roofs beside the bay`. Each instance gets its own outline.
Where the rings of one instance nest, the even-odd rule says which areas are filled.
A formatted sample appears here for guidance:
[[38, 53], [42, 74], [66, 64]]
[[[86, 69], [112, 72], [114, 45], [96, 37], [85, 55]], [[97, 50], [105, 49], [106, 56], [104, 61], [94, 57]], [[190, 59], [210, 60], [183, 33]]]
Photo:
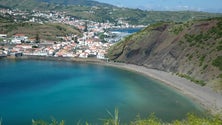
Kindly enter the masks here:
[[[67, 34], [59, 36], [61, 41], [39, 41], [37, 38], [29, 38], [26, 34], [17, 33], [13, 36], [0, 33], [0, 56], [51, 56], [51, 57], [76, 57], [106, 59], [107, 50], [122, 36], [116, 39], [118, 34], [108, 32], [108, 29], [135, 28], [127, 22], [118, 20], [118, 25], [109, 23], [78, 20], [66, 16], [63, 12], [24, 12], [21, 10], [1, 9], [1, 16], [10, 15], [15, 22], [25, 21], [34, 23], [62, 23], [76, 27], [82, 32], [81, 36]], [[101, 35], [106, 36], [101, 39]]]

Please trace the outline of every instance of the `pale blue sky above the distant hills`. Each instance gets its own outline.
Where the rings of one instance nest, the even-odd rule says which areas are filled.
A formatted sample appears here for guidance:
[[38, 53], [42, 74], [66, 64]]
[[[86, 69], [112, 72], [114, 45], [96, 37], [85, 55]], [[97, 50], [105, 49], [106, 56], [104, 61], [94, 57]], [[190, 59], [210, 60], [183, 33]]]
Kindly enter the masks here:
[[96, 0], [120, 7], [147, 10], [195, 10], [222, 13], [222, 0]]

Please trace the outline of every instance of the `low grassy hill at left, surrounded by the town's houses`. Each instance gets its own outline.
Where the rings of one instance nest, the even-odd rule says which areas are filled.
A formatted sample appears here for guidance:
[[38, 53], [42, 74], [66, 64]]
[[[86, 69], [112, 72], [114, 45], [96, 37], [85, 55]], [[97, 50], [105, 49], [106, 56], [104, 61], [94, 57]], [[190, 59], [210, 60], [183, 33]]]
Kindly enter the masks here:
[[0, 23], [0, 32], [12, 36], [16, 33], [23, 33], [30, 38], [35, 38], [39, 34], [42, 40], [57, 40], [57, 36], [67, 34], [80, 34], [74, 27], [64, 24], [36, 24], [36, 23]]

